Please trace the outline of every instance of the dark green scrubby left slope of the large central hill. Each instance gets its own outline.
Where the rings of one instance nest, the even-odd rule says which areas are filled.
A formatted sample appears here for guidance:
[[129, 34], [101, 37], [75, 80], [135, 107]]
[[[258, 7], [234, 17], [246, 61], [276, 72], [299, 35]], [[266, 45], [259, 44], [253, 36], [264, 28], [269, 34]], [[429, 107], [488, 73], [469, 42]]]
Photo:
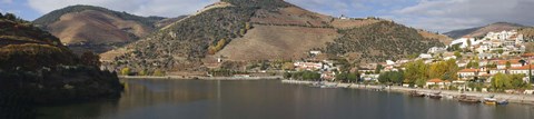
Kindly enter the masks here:
[[235, 6], [201, 12], [129, 46], [132, 51], [116, 58], [115, 62], [128, 63], [126, 67], [132, 69], [168, 70], [214, 54], [251, 28], [248, 21], [258, 9]]

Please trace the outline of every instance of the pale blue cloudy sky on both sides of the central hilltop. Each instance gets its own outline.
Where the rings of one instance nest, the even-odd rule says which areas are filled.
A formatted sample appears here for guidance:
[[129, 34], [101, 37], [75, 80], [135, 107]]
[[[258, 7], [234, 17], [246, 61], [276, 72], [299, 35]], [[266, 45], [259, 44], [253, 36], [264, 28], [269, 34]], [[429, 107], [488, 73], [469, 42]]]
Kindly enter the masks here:
[[[0, 0], [0, 12], [26, 20], [73, 4], [91, 4], [138, 16], [190, 14], [219, 0]], [[352, 18], [379, 17], [408, 27], [446, 32], [514, 22], [534, 26], [534, 0], [286, 0], [310, 11]]]

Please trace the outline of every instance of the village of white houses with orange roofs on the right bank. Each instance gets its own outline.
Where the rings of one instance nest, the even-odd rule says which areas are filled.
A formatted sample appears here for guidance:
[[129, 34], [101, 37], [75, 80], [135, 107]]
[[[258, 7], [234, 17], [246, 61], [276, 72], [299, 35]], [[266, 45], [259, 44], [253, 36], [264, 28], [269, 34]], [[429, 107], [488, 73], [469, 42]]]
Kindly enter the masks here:
[[[417, 58], [386, 60], [354, 67], [346, 72], [357, 72], [358, 78], [349, 80], [345, 80], [346, 76], [339, 77], [343, 73], [340, 68], [343, 65], [333, 60], [295, 61], [294, 67], [296, 71], [320, 73], [320, 79], [327, 81], [395, 83], [412, 88], [532, 95], [534, 53], [525, 52], [525, 42], [530, 40], [524, 39], [523, 34], [518, 34], [515, 30], [490, 32], [482, 38], [464, 37], [452, 41], [446, 47], [433, 47], [427, 53], [421, 53]], [[322, 52], [310, 51], [309, 53], [319, 56]], [[414, 71], [414, 68], [422, 68], [423, 71]], [[389, 72], [402, 75], [388, 77]], [[299, 79], [294, 76], [286, 78]]]

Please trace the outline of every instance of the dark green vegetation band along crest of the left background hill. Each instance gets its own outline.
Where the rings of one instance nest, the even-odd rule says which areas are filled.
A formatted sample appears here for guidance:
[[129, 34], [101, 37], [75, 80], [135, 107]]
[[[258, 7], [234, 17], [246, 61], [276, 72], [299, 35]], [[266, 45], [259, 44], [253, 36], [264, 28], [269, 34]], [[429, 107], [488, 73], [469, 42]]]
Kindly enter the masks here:
[[101, 7], [78, 4], [78, 6], [70, 6], [70, 7], [67, 7], [67, 8], [63, 8], [63, 9], [55, 10], [50, 13], [47, 13], [46, 16], [42, 16], [42, 17], [33, 20], [33, 23], [39, 24], [40, 28], [46, 28], [47, 24], [50, 24], [50, 23], [53, 23], [53, 22], [58, 21], [59, 18], [61, 18], [61, 16], [63, 16], [66, 13], [81, 12], [81, 11], [85, 11], [85, 10], [96, 10], [96, 11], [105, 12], [105, 13], [108, 13], [108, 14], [116, 16], [118, 18], [122, 18], [125, 20], [137, 21], [137, 22], [140, 22], [140, 23], [145, 24], [145, 26], [150, 26], [150, 27], [154, 27], [156, 22], [165, 19], [165, 18], [161, 18], [161, 17], [139, 17], [139, 16], [130, 14], [130, 13], [127, 13], [127, 12], [112, 11], [112, 10], [101, 8]]

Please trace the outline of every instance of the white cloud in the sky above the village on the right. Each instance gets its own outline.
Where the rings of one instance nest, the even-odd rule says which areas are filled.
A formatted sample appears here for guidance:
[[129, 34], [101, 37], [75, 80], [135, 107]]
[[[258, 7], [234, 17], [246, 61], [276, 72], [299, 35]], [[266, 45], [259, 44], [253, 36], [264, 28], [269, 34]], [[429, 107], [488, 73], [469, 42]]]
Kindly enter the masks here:
[[532, 26], [533, 6], [532, 0], [422, 0], [392, 14], [408, 26], [444, 32], [498, 21]]

